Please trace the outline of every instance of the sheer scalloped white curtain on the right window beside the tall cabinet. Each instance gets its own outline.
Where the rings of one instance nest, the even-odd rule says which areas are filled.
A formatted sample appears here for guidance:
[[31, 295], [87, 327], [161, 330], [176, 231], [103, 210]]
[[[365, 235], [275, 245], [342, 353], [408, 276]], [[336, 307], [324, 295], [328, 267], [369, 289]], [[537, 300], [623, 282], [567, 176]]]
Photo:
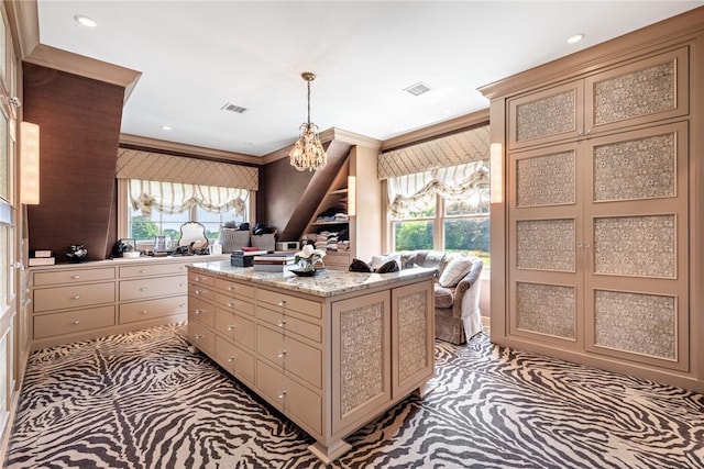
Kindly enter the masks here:
[[422, 211], [436, 194], [459, 200], [466, 198], [471, 190], [485, 189], [490, 175], [487, 163], [472, 161], [388, 178], [389, 211], [394, 216], [405, 217], [410, 212]]

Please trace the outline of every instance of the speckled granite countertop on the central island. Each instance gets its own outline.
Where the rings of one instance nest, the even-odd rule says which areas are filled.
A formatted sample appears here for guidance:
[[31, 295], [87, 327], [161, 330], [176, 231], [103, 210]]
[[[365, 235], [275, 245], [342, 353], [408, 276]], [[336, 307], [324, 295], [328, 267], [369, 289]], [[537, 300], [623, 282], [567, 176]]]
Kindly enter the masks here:
[[255, 271], [253, 267], [233, 267], [229, 261], [196, 263], [187, 266], [187, 268], [204, 273], [223, 275], [233, 280], [244, 280], [316, 297], [334, 297], [393, 284], [404, 280], [431, 279], [435, 275], [435, 269], [416, 267], [392, 273], [361, 273], [324, 269], [315, 277], [297, 277], [293, 272], [266, 272]]

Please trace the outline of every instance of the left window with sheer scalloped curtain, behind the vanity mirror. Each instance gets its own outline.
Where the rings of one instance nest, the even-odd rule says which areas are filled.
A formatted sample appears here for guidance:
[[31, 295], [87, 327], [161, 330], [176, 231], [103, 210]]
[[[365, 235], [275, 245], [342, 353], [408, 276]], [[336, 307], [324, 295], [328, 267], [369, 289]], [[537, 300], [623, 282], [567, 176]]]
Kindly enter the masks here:
[[130, 179], [127, 191], [128, 235], [140, 242], [155, 236], [180, 236], [180, 225], [199, 222], [208, 239], [220, 237], [228, 222], [249, 220], [249, 191], [245, 189]]

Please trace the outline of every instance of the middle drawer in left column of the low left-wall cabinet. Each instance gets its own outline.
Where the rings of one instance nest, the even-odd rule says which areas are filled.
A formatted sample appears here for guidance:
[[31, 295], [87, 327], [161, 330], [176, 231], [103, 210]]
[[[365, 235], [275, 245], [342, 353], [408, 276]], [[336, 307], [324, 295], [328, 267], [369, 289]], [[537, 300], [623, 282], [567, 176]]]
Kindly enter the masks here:
[[113, 301], [114, 282], [34, 290], [35, 312], [90, 306], [92, 304], [112, 303]]

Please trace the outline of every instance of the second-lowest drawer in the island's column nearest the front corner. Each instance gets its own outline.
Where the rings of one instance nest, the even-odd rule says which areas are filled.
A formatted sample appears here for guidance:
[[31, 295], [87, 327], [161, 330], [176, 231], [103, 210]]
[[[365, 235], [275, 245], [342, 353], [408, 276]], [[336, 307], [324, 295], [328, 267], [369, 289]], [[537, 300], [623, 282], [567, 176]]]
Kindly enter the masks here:
[[316, 388], [322, 384], [322, 356], [320, 350], [296, 340], [284, 337], [262, 325], [256, 326], [256, 351], [287, 372], [309, 382]]

